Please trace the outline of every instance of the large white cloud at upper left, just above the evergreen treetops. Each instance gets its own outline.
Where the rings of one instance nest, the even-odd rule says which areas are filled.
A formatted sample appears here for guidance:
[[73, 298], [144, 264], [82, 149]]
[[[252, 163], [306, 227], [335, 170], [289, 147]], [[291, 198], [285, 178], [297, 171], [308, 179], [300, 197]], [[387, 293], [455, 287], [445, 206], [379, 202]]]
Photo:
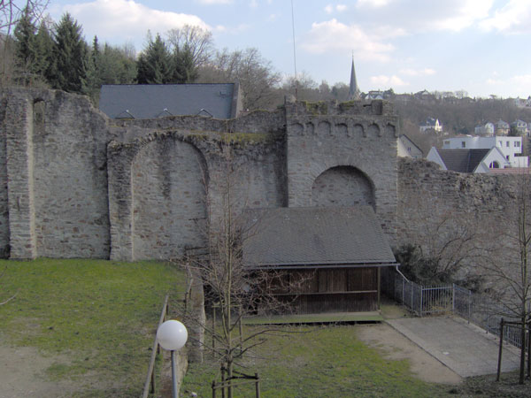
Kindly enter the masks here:
[[90, 38], [97, 34], [102, 41], [143, 42], [148, 30], [164, 34], [184, 25], [193, 25], [210, 30], [196, 15], [172, 11], [158, 11], [134, 0], [95, 0], [89, 3], [67, 4], [68, 11], [83, 26]]

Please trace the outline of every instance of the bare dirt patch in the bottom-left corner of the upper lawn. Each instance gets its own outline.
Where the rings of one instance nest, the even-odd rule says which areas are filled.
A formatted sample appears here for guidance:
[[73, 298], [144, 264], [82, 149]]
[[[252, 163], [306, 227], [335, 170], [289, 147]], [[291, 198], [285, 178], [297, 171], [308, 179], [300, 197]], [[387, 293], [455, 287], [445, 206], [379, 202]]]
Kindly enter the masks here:
[[0, 346], [0, 398], [71, 396], [73, 382], [46, 378], [46, 370], [57, 362], [57, 357], [41, 356], [35, 348]]

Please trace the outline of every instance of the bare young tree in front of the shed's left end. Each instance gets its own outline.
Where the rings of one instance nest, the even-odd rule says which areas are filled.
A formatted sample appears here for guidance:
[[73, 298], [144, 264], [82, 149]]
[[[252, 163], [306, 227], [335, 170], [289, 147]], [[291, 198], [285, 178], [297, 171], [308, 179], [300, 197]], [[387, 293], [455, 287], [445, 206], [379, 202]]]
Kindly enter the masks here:
[[[219, 172], [209, 176], [210, 182], [205, 181], [205, 187], [215, 191], [211, 192], [212, 195], [206, 195], [214, 198], [207, 199], [207, 247], [203, 256], [189, 257], [188, 266], [192, 268], [192, 273], [200, 274], [206, 300], [219, 313], [217, 326], [211, 327], [204, 321], [201, 325], [215, 341], [216, 348], [203, 347], [213, 349], [221, 367], [227, 370], [227, 396], [232, 397], [231, 380], [235, 365], [242, 365], [242, 359], [250, 354], [252, 348], [265, 341], [266, 333], [279, 333], [271, 327], [243, 333], [239, 327], [242, 316], [257, 309], [279, 310], [280, 306], [284, 308], [287, 304], [277, 302], [266, 291], [269, 281], [279, 279], [278, 272], [251, 270], [249, 264], [244, 263], [244, 242], [253, 232], [249, 217], [242, 211], [246, 198], [238, 194], [244, 191], [239, 187], [242, 169], [235, 159], [235, 143], [232, 142], [231, 134], [224, 134], [219, 143], [222, 150]], [[189, 322], [197, 321], [192, 318]]]

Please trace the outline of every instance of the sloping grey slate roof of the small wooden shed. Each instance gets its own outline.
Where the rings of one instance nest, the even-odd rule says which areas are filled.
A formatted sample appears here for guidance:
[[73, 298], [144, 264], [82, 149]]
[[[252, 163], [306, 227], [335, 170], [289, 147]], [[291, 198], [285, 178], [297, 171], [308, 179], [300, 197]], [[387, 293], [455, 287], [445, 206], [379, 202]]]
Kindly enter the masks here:
[[396, 263], [371, 206], [255, 209], [247, 217], [250, 267]]

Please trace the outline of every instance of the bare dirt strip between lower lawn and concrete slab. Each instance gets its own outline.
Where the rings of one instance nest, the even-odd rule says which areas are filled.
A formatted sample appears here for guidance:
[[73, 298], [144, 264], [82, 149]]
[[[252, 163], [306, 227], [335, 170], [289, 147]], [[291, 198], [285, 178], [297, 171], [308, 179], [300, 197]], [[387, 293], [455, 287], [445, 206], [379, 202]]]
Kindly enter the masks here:
[[359, 326], [358, 338], [370, 347], [381, 350], [389, 359], [409, 360], [412, 373], [421, 380], [449, 385], [458, 385], [462, 381], [457, 373], [450, 371], [387, 324]]

